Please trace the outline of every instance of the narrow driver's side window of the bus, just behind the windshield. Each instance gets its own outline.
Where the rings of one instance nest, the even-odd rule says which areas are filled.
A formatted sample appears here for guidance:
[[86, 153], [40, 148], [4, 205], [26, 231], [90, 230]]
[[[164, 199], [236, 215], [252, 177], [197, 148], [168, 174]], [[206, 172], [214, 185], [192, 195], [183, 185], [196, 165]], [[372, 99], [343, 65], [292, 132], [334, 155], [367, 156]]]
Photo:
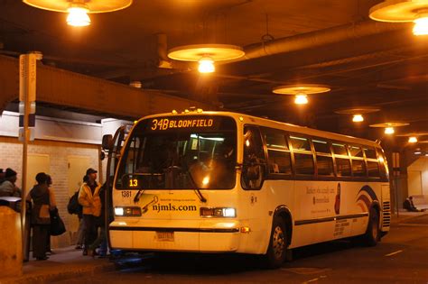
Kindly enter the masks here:
[[244, 163], [242, 188], [259, 189], [265, 178], [265, 151], [262, 137], [255, 126], [244, 128]]

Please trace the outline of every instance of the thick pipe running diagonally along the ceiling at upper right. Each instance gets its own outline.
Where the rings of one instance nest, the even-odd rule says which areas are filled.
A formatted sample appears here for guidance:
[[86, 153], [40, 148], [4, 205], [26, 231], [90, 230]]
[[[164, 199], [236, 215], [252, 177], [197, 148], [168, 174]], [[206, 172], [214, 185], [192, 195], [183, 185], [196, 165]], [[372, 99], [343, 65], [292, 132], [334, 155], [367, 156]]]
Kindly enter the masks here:
[[404, 23], [366, 21], [344, 24], [316, 32], [297, 34], [273, 41], [254, 43], [244, 47], [246, 55], [236, 61], [251, 60], [278, 53], [324, 46], [340, 41], [356, 40], [369, 35], [405, 29]]

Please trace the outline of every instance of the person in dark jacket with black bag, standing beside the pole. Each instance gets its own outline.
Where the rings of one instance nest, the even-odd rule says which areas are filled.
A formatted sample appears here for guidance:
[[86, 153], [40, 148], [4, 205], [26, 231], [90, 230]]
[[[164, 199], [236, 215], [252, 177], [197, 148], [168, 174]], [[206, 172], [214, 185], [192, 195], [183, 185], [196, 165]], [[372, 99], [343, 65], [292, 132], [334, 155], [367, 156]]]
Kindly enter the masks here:
[[35, 185], [27, 196], [27, 200], [33, 200], [32, 225], [33, 225], [33, 257], [38, 261], [45, 261], [46, 243], [49, 237], [51, 224], [50, 210], [56, 208], [53, 192], [48, 188], [48, 175], [39, 172]]

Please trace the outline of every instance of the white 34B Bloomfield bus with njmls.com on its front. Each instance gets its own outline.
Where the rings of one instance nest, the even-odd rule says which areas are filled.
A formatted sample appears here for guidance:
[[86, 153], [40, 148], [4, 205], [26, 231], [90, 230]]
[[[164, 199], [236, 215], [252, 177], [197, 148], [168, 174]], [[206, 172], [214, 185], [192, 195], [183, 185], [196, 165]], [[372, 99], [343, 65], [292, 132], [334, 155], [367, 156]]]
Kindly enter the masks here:
[[354, 236], [375, 245], [389, 231], [376, 142], [200, 109], [144, 117], [118, 140], [103, 140], [117, 162], [113, 249], [253, 253], [279, 267], [289, 249]]

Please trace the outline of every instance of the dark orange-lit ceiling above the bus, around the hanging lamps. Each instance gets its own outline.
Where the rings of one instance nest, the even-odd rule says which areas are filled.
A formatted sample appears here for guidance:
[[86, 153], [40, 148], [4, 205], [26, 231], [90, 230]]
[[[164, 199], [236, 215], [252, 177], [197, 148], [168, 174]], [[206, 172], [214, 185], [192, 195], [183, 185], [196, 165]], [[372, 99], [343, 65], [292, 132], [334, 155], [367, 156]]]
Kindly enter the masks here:
[[[368, 10], [378, 0], [135, 0], [129, 8], [91, 14], [73, 28], [66, 14], [0, 0], [2, 52], [43, 53], [43, 63], [98, 78], [161, 90], [250, 115], [377, 139], [368, 124], [410, 123], [398, 133], [428, 133], [428, 37], [406, 23], [375, 23]], [[246, 60], [201, 76], [189, 64], [158, 68], [158, 34], [168, 48], [196, 43], [242, 46]], [[326, 84], [328, 94], [297, 107], [293, 96], [272, 88]], [[380, 112], [353, 124], [338, 109], [376, 106]], [[405, 138], [397, 138], [404, 141]], [[427, 136], [422, 137], [428, 140]], [[428, 145], [424, 143], [422, 145]]]

